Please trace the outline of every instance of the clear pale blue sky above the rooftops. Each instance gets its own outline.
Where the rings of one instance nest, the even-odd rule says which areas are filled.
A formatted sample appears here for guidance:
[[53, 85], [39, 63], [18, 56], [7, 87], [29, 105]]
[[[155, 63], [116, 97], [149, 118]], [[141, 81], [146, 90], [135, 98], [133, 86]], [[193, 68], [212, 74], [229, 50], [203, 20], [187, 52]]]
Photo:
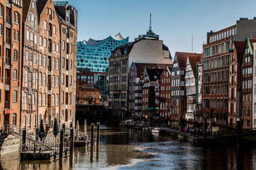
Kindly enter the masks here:
[[202, 52], [206, 33], [256, 17], [256, 1], [238, 0], [69, 0], [78, 11], [78, 41], [104, 39], [120, 32], [134, 41], [148, 30], [159, 34], [172, 53]]

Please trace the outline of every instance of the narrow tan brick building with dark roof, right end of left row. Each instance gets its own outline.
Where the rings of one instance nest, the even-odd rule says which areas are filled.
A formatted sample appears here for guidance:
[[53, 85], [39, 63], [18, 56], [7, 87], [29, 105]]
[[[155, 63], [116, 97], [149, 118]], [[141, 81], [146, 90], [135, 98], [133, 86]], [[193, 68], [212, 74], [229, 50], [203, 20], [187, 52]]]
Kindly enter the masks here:
[[[58, 101], [60, 101], [59, 122], [65, 122], [69, 125], [70, 122], [76, 120], [76, 65], [77, 65], [77, 11], [68, 2], [54, 2], [56, 10], [56, 18], [58, 18], [59, 27], [57, 32], [60, 32], [60, 57], [59, 55], [54, 59], [52, 57], [52, 69], [56, 69], [56, 76], [60, 82], [60, 94]], [[51, 16], [50, 16], [51, 17]], [[54, 29], [54, 28], [53, 28]], [[53, 44], [53, 48], [55, 45]], [[54, 49], [53, 49], [54, 50]], [[56, 67], [58, 63], [58, 68]], [[56, 64], [56, 66], [54, 66]], [[54, 75], [52, 75], [52, 83]], [[57, 83], [57, 82], [56, 82]], [[54, 87], [54, 85], [52, 85]], [[56, 89], [57, 90], [57, 89]], [[60, 99], [60, 100], [59, 100]], [[54, 97], [52, 97], [54, 100]], [[54, 102], [52, 101], [52, 104]], [[57, 105], [56, 99], [56, 105]], [[57, 109], [57, 108], [56, 108]], [[54, 113], [54, 111], [53, 111]]]

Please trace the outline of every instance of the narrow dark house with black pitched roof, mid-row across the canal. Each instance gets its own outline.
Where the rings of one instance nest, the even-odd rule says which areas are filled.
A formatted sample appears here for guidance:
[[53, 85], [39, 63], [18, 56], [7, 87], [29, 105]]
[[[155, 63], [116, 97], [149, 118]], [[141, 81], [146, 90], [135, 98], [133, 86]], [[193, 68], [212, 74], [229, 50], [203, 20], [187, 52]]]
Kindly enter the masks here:
[[156, 109], [155, 103], [155, 86], [160, 79], [164, 69], [145, 69], [143, 73], [142, 86], [142, 113], [148, 114], [149, 108]]

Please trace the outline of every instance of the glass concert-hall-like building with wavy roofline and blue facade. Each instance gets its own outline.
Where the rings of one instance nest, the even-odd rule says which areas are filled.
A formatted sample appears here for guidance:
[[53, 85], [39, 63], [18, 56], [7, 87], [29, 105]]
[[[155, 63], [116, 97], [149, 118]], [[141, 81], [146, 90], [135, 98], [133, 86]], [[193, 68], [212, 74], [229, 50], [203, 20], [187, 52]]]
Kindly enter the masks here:
[[129, 42], [129, 37], [123, 38], [120, 33], [115, 37], [109, 36], [106, 39], [79, 41], [77, 43], [77, 68], [90, 69], [96, 72], [108, 72], [111, 52], [117, 46]]

